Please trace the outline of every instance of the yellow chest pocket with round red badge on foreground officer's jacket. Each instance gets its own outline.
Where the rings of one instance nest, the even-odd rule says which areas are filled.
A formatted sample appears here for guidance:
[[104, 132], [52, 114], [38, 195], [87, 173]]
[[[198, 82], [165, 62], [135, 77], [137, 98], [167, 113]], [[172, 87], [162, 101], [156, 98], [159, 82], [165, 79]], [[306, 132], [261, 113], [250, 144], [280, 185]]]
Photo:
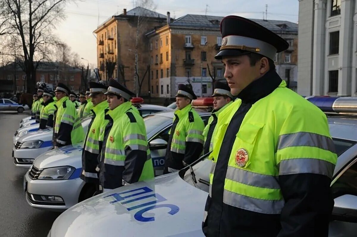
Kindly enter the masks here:
[[230, 165], [247, 168], [254, 161], [256, 140], [264, 124], [242, 124], [233, 144]]

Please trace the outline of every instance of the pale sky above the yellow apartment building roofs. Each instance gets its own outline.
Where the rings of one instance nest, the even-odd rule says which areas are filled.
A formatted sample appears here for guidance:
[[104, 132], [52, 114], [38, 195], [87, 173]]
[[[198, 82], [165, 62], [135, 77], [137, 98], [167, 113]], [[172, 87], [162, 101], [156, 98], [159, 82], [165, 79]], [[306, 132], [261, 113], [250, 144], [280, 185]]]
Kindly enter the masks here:
[[[268, 4], [268, 20], [298, 21], [298, 0], [154, 0], [156, 12], [172, 18], [186, 14], [211, 16], [238, 15], [247, 18], [263, 19], [265, 5]], [[208, 5], [208, 6], [206, 6]], [[57, 27], [57, 35], [66, 42], [73, 52], [91, 64], [96, 60], [96, 38], [93, 31], [98, 25], [123, 9], [133, 8], [132, 0], [82, 0], [67, 5], [67, 18]], [[86, 63], [86, 61], [83, 61]]]

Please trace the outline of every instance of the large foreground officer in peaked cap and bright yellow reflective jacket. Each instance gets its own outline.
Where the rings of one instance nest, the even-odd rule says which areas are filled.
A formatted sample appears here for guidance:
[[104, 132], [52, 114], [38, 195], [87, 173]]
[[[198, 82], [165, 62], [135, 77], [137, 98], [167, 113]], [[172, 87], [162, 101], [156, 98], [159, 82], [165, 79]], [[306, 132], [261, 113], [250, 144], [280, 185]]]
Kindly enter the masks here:
[[225, 66], [238, 99], [218, 118], [206, 236], [328, 236], [337, 155], [326, 115], [286, 88], [273, 59], [288, 43], [239, 16], [221, 21]]

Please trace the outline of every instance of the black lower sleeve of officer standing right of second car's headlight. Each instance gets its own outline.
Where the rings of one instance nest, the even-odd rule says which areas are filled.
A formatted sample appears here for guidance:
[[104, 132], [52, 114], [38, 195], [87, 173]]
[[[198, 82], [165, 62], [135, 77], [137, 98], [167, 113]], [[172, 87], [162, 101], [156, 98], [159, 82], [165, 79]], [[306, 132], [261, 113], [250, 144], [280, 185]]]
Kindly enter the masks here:
[[132, 184], [139, 181], [147, 158], [147, 152], [142, 150], [131, 150], [130, 146], [126, 146], [125, 154], [123, 180]]

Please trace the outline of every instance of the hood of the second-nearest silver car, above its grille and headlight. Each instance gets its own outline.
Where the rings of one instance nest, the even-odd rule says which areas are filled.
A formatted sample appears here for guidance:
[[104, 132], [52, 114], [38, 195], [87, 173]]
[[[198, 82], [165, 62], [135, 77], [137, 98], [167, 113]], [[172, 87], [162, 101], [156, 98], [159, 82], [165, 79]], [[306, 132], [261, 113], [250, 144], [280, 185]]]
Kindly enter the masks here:
[[67, 165], [76, 169], [82, 168], [82, 147], [82, 143], [78, 143], [49, 150], [35, 159], [34, 166], [37, 169]]

